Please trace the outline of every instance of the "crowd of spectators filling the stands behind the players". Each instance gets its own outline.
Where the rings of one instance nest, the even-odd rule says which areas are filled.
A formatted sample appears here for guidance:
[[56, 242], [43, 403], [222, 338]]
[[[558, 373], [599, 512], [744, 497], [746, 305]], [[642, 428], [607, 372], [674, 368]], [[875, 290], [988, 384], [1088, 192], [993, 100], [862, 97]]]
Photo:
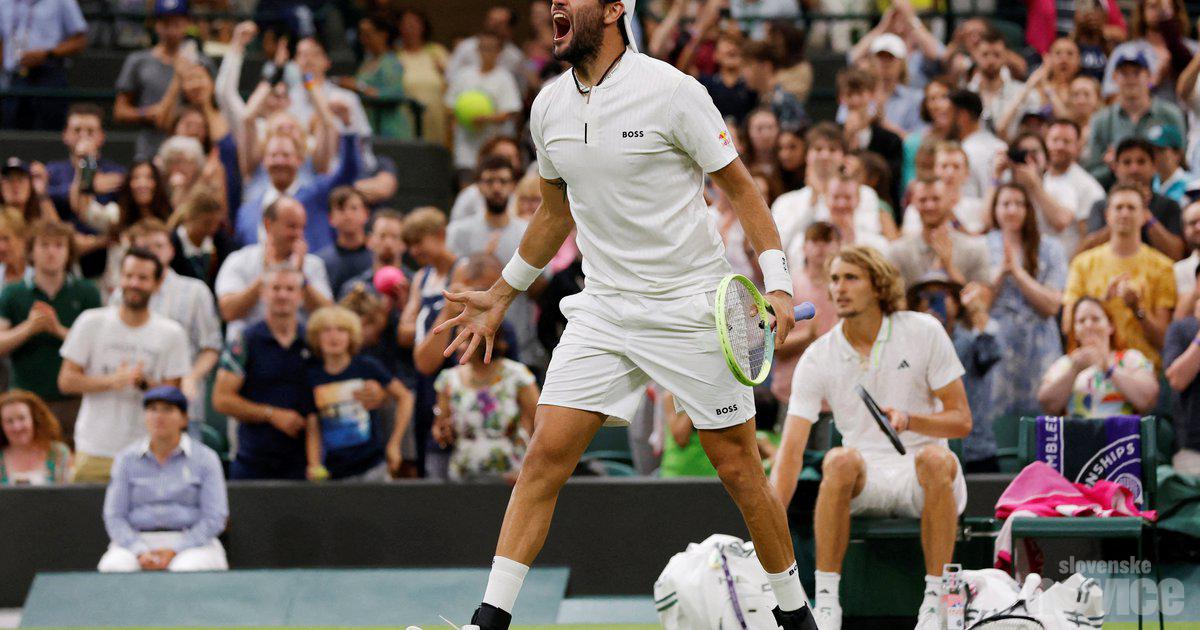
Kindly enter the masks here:
[[[456, 314], [443, 290], [491, 284], [538, 208], [527, 113], [565, 70], [550, 2], [493, 7], [451, 47], [420, 11], [367, 2], [342, 20], [350, 76], [331, 71], [346, 42], [318, 35], [302, 2], [276, 4], [296, 6], [220, 26], [155, 1], [154, 43], [127, 55], [110, 108], [4, 98], [5, 127], [61, 131], [64, 148], [44, 164], [19, 143], [0, 156], [0, 484], [112, 479], [112, 570], [188, 565], [160, 551], [208, 544], [125, 540], [138, 494], [119, 490], [151, 455], [170, 469], [181, 454], [168, 474], [204, 473], [202, 433], [228, 440], [232, 479], [512, 480], [558, 302], [583, 289], [569, 238], [509, 311], [499, 360], [460, 365], [443, 356], [454, 332], [432, 332]], [[821, 89], [799, 22], [730, 4], [638, 2], [637, 18], [641, 49], [726, 116], [796, 299], [818, 305], [776, 353], [761, 427], [835, 324], [827, 262], [865, 245], [967, 368], [968, 472], [997, 469], [995, 418], [1144, 414], [1164, 408], [1163, 386], [1176, 466], [1200, 470], [1200, 47], [1182, 4], [1058, 2], [1052, 24], [1031, 17], [1013, 41], [982, 17], [893, 1], [857, 41], [841, 22], [814, 38], [845, 55], [829, 116], [810, 113]], [[76, 0], [0, 4], [0, 88], [68, 88], [88, 30]], [[266, 62], [246, 95], [253, 55]], [[480, 97], [488, 107], [460, 107]], [[131, 163], [104, 155], [114, 126], [137, 132]], [[379, 138], [451, 151], [452, 205], [394, 209], [406, 164]], [[761, 280], [728, 199], [706, 196], [731, 265]], [[652, 385], [646, 408], [655, 455], [641, 472], [712, 474], [670, 392]], [[224, 419], [228, 436], [209, 439]], [[764, 436], [768, 461], [773, 449]], [[197, 522], [224, 514], [223, 498], [180, 500], [204, 504], [187, 511]], [[191, 562], [223, 562], [208, 552]]]

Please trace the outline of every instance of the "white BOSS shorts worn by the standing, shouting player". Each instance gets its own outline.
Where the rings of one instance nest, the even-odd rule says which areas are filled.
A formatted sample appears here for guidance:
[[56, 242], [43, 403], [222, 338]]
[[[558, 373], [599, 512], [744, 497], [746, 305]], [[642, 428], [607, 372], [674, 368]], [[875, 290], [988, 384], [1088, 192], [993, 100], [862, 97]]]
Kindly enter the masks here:
[[646, 384], [676, 397], [696, 428], [754, 416], [754, 392], [721, 353], [710, 294], [677, 299], [578, 293], [562, 302], [566, 329], [546, 371], [539, 404], [607, 414], [628, 425]]

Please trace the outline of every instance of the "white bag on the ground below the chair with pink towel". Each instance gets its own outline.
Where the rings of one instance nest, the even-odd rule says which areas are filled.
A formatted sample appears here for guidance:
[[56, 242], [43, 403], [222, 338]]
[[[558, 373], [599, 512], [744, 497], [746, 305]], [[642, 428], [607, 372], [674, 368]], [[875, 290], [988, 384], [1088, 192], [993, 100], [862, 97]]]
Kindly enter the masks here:
[[998, 569], [962, 571], [968, 630], [1092, 630], [1104, 625], [1104, 594], [1094, 580], [1074, 574], [1042, 589], [1031, 574], [1019, 586]]

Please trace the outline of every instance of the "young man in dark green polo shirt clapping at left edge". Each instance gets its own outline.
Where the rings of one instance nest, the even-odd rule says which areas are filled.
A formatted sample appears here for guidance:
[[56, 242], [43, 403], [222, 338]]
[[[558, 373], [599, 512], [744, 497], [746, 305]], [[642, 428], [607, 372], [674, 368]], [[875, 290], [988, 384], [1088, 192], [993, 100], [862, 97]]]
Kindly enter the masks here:
[[79, 397], [59, 391], [59, 348], [79, 313], [96, 308], [100, 290], [67, 274], [74, 260], [74, 230], [59, 221], [34, 223], [29, 236], [32, 277], [0, 290], [0, 356], [12, 359], [12, 388], [42, 397], [71, 443]]

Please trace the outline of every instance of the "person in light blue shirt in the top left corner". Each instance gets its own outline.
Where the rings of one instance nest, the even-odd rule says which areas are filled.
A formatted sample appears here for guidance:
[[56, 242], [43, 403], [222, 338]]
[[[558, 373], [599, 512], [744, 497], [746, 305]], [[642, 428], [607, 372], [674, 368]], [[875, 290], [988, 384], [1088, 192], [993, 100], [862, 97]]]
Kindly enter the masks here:
[[[88, 46], [88, 23], [76, 0], [0, 2], [0, 88], [66, 88], [62, 60]], [[7, 128], [56, 130], [67, 102], [6, 96], [0, 119]]]

